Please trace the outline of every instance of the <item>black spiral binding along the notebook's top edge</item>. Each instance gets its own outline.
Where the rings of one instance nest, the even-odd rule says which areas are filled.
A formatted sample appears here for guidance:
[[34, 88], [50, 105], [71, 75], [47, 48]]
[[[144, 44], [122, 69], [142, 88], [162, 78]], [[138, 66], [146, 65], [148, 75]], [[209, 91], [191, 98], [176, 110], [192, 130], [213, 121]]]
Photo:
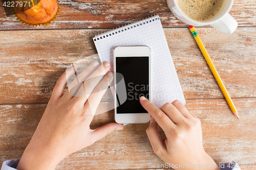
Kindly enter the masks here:
[[159, 15], [154, 15], [154, 16], [152, 15], [152, 16], [149, 16], [148, 18], [145, 18], [145, 19], [133, 22], [133, 23], [128, 23], [127, 25], [125, 24], [124, 26], [122, 25], [121, 27], [119, 26], [119, 28], [116, 27], [116, 29], [113, 28], [113, 30], [95, 35], [93, 40], [98, 41], [100, 39], [110, 37], [112, 35], [119, 34], [124, 31], [130, 30], [130, 29], [133, 29], [133, 28], [136, 28], [139, 26], [146, 25], [147, 23], [154, 22], [155, 20], [160, 20]]

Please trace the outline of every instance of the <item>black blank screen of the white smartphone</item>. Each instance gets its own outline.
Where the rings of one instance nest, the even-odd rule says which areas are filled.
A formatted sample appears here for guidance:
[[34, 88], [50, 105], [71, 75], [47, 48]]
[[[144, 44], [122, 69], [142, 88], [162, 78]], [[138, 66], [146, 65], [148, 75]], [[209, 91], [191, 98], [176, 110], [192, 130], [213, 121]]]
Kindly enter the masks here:
[[[123, 76], [127, 99], [120, 104], [120, 93], [116, 95], [117, 114], [147, 113], [141, 106], [141, 95], [149, 99], [150, 95], [150, 59], [149, 57], [116, 57], [116, 72]], [[116, 83], [116, 91], [121, 85]], [[124, 89], [124, 88], [122, 88]]]

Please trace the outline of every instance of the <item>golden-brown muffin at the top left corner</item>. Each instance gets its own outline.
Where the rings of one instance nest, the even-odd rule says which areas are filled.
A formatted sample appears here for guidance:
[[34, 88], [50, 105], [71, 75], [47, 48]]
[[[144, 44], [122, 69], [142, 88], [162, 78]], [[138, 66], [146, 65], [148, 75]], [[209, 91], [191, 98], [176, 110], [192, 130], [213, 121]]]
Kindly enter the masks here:
[[19, 0], [20, 2], [24, 3], [22, 7], [19, 5], [12, 7], [14, 17], [28, 25], [48, 25], [59, 12], [58, 0]]

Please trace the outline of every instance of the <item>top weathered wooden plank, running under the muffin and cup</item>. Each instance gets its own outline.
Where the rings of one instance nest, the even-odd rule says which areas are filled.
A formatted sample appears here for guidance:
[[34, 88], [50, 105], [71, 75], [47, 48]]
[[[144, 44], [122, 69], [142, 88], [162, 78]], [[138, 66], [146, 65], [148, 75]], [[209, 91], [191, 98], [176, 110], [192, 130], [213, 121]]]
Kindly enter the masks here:
[[[187, 27], [170, 12], [166, 0], [59, 0], [59, 4], [59, 16], [51, 25], [30, 27], [17, 22], [10, 12], [6, 15], [0, 2], [0, 30], [115, 28], [154, 14], [159, 14], [163, 27]], [[230, 14], [239, 26], [256, 26], [255, 6], [251, 0], [234, 1]]]

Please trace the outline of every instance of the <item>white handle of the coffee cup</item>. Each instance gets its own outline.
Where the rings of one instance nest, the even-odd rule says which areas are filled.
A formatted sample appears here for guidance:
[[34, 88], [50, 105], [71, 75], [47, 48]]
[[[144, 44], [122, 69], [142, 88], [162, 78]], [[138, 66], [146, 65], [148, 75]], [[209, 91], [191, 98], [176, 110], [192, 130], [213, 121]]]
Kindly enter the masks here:
[[227, 13], [221, 20], [211, 24], [211, 26], [225, 34], [232, 34], [238, 28], [238, 22]]

